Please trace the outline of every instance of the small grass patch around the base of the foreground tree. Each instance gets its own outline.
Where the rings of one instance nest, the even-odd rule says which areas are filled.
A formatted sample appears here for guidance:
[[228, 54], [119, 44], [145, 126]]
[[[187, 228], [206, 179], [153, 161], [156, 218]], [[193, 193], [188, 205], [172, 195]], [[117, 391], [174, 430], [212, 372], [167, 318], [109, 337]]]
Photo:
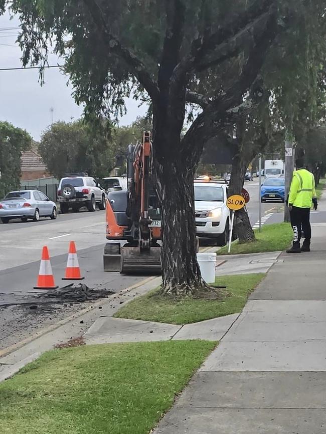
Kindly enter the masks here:
[[241, 312], [249, 294], [264, 274], [239, 274], [217, 277], [216, 285], [225, 285], [229, 295], [222, 300], [184, 298], [180, 301], [160, 297], [158, 289], [137, 297], [121, 307], [116, 318], [141, 319], [170, 324], [190, 324]]

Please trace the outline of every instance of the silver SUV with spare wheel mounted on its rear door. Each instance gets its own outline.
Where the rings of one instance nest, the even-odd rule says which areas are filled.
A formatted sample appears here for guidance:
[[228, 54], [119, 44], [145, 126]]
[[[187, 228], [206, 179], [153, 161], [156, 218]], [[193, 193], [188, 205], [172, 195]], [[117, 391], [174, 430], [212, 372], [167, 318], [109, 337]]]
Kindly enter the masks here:
[[83, 206], [86, 206], [89, 211], [96, 211], [96, 205], [100, 210], [106, 208], [105, 191], [87, 173], [69, 174], [61, 178], [58, 187], [58, 202], [63, 214], [66, 214], [69, 208], [78, 212]]

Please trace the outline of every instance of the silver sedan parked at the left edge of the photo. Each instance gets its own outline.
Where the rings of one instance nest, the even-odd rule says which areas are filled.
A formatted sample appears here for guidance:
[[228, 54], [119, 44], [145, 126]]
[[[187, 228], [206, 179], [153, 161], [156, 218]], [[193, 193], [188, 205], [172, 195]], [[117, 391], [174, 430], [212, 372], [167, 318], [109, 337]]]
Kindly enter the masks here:
[[0, 218], [3, 223], [20, 218], [23, 222], [32, 219], [35, 222], [40, 217], [57, 218], [57, 206], [42, 191], [22, 190], [11, 191], [0, 202]]

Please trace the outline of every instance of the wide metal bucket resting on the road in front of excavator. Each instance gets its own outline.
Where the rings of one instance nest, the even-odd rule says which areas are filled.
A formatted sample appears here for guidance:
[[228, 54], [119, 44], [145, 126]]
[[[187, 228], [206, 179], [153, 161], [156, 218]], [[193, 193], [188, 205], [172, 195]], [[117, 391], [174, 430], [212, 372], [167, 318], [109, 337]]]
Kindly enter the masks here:
[[160, 247], [151, 247], [149, 251], [143, 252], [138, 247], [121, 247], [120, 273], [160, 274]]

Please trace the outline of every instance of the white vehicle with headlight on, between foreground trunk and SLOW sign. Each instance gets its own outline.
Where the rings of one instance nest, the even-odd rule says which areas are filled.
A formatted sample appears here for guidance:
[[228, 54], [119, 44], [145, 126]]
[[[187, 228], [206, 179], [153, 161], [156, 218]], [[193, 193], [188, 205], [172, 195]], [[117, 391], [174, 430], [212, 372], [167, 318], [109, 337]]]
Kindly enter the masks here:
[[230, 231], [230, 211], [226, 206], [227, 184], [196, 179], [194, 189], [197, 235], [215, 238], [218, 245], [226, 245]]

